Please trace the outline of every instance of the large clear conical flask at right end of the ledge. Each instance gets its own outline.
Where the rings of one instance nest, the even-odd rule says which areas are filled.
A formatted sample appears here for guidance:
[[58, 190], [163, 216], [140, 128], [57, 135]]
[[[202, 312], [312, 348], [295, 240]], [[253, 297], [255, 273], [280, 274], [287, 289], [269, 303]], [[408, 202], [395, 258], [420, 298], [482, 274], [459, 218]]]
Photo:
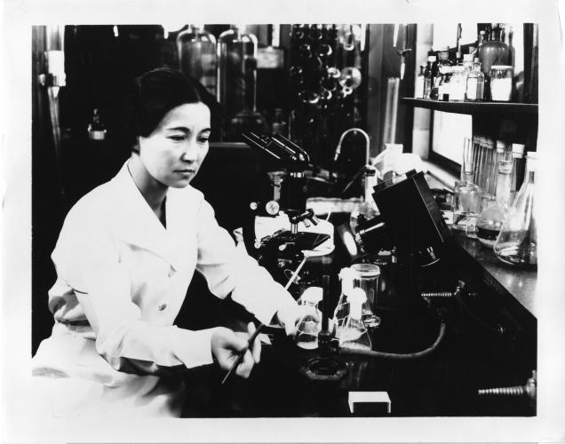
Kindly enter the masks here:
[[536, 188], [536, 158], [527, 156], [527, 176], [508, 209], [497, 241], [497, 258], [512, 266], [537, 267], [537, 226], [534, 192]]

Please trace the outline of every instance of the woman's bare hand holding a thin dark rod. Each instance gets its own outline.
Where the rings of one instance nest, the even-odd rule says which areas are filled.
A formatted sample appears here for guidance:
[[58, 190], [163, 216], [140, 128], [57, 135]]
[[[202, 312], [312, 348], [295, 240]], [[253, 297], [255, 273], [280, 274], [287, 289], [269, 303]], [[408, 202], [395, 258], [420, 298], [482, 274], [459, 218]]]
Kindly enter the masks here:
[[[231, 369], [239, 353], [246, 347], [249, 338], [255, 331], [255, 325], [250, 322], [247, 326], [249, 333], [235, 333], [231, 329], [218, 327], [211, 336], [211, 352], [218, 361], [219, 367], [224, 370]], [[249, 377], [254, 364], [259, 364], [261, 355], [261, 342], [259, 336], [255, 338], [251, 347], [245, 351], [243, 361], [235, 369], [235, 374], [240, 377]]]

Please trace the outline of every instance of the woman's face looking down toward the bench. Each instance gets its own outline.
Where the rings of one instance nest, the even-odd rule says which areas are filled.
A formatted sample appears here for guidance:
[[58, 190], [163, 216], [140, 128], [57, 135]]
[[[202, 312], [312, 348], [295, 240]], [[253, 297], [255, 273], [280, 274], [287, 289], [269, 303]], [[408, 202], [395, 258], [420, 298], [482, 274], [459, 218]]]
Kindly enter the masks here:
[[172, 108], [147, 138], [139, 137], [139, 157], [165, 186], [183, 188], [208, 153], [210, 109], [202, 102]]

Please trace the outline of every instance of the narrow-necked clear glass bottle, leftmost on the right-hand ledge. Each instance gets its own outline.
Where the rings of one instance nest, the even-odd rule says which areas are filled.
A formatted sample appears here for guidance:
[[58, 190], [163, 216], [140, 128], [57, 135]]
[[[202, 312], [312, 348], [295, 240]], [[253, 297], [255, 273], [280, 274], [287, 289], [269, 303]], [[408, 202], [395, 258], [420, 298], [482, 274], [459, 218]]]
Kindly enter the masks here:
[[467, 235], [473, 237], [475, 223], [479, 217], [480, 203], [481, 188], [474, 183], [473, 147], [471, 139], [465, 139], [461, 179], [456, 182], [453, 190], [453, 225], [451, 228], [466, 232]]

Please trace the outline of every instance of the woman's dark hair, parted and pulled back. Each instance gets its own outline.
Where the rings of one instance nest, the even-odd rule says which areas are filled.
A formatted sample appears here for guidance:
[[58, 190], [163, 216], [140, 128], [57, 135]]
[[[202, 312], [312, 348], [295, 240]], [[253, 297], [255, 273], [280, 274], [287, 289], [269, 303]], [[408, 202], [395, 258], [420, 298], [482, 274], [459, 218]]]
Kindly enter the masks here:
[[[131, 93], [131, 142], [147, 137], [171, 109], [185, 103], [202, 102], [211, 111], [212, 133], [218, 120], [219, 104], [202, 83], [169, 67], [159, 67], [139, 75]], [[213, 135], [212, 135], [213, 139]]]

